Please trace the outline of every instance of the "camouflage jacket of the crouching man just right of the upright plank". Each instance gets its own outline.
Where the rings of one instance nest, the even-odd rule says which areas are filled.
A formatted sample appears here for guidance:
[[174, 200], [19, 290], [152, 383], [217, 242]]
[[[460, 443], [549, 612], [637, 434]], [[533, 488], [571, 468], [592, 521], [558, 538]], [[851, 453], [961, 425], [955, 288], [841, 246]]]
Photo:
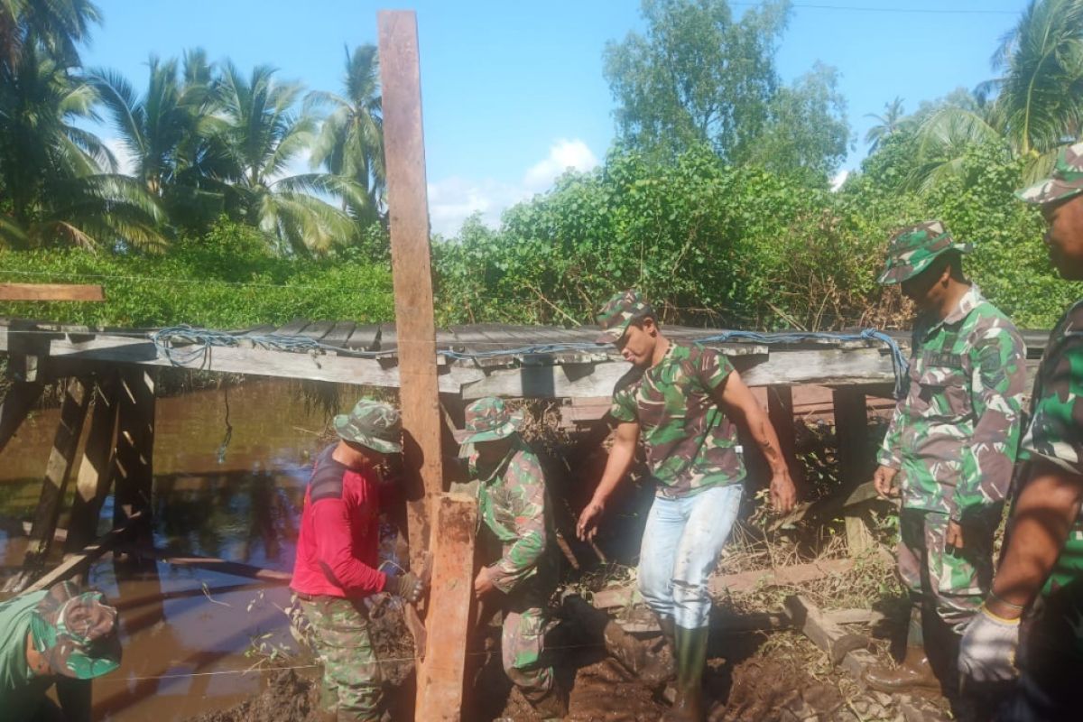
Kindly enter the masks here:
[[508, 456], [495, 465], [479, 464], [478, 455], [471, 455], [469, 473], [478, 482], [479, 523], [488, 533], [482, 542], [491, 536], [499, 549], [485, 550], [488, 560], [499, 557], [488, 567], [493, 583], [507, 594], [538, 574], [553, 537], [542, 464], [517, 434]]

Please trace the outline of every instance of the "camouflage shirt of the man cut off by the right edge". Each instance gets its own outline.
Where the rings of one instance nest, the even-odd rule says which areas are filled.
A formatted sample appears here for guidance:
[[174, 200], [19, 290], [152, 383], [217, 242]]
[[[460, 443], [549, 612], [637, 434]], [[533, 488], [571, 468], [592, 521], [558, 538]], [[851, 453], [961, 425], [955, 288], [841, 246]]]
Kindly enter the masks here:
[[[1020, 458], [1041, 457], [1083, 475], [1083, 301], [1049, 334], [1034, 379], [1031, 420]], [[1043, 593], [1083, 576], [1083, 512], [1077, 517]]]

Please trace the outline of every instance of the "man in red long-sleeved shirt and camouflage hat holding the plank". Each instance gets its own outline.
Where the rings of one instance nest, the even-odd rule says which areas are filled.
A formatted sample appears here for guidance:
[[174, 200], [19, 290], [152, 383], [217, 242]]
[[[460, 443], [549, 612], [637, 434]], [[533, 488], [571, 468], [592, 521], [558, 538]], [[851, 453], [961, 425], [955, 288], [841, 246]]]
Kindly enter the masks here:
[[321, 707], [330, 722], [380, 719], [379, 660], [368, 633], [365, 598], [390, 592], [416, 602], [423, 591], [413, 573], [389, 576], [377, 567], [379, 472], [402, 451], [399, 411], [363, 398], [335, 417], [339, 442], [316, 459], [304, 491], [290, 588], [312, 623], [324, 664]]

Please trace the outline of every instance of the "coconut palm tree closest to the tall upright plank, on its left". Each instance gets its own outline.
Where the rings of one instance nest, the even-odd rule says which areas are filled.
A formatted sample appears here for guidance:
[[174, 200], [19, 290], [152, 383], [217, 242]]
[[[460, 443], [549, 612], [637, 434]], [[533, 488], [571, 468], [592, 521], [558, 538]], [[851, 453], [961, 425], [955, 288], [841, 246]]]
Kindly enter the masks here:
[[376, 45], [347, 48], [344, 94], [313, 91], [305, 97], [308, 108], [331, 108], [312, 146], [312, 167], [339, 176], [339, 185], [349, 180], [360, 187], [342, 195], [342, 210], [366, 225], [383, 209], [386, 183], [378, 63]]

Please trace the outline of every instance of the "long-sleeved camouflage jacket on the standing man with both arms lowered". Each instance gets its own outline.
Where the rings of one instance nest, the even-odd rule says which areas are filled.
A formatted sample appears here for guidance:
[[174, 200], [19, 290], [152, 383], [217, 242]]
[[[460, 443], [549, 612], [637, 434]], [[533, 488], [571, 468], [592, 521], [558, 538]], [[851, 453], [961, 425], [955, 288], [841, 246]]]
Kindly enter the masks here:
[[947, 318], [918, 318], [905, 395], [877, 461], [909, 509], [983, 518], [1004, 500], [1019, 443], [1027, 350], [977, 286]]

